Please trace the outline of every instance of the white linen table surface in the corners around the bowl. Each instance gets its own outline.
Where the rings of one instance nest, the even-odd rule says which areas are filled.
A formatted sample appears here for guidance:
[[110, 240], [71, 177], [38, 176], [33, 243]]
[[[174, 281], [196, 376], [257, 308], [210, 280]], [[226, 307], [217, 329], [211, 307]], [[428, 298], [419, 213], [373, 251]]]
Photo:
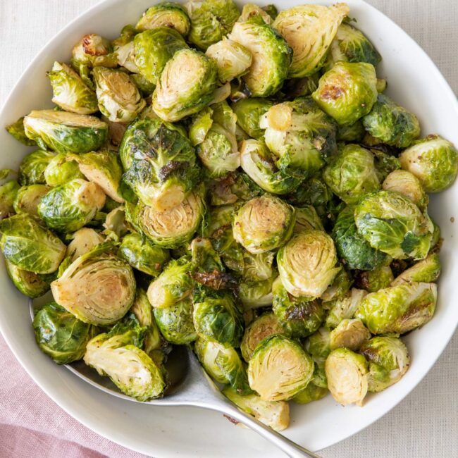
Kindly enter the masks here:
[[[416, 39], [458, 94], [458, 1], [368, 2]], [[0, 106], [37, 51], [70, 20], [97, 3], [0, 0]], [[458, 457], [458, 333], [431, 372], [395, 409], [321, 453], [324, 458]]]

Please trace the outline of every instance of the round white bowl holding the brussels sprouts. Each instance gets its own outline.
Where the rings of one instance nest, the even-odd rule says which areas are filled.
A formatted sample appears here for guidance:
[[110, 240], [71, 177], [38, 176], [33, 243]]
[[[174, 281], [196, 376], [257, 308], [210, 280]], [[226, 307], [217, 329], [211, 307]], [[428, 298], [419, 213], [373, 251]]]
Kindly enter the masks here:
[[[316, 1], [316, 0], [315, 0]], [[106, 0], [75, 19], [51, 39], [30, 63], [0, 113], [0, 126], [13, 122], [32, 109], [51, 106], [51, 87], [46, 71], [55, 60], [68, 61], [73, 44], [86, 33], [115, 38], [121, 27], [135, 23], [154, 0]], [[239, 2], [242, 4], [242, 2]], [[268, 4], [268, 1], [257, 1]], [[300, 0], [276, 2], [282, 8]], [[330, 4], [330, 1], [316, 1]], [[425, 52], [400, 27], [360, 0], [349, 0], [350, 16], [368, 35], [383, 56], [380, 77], [388, 78], [388, 94], [419, 116], [422, 133], [439, 133], [458, 145], [458, 103]], [[0, 168], [14, 168], [29, 151], [0, 128]], [[364, 407], [341, 407], [328, 396], [307, 406], [292, 405], [291, 426], [285, 435], [320, 450], [369, 426], [400, 402], [431, 369], [458, 323], [457, 224], [458, 183], [431, 198], [430, 212], [440, 224], [444, 244], [439, 302], [433, 320], [404, 340], [411, 367], [399, 383], [371, 395]], [[59, 406], [88, 428], [144, 454], [160, 457], [283, 456], [252, 431], [236, 428], [221, 414], [190, 407], [152, 407], [120, 400], [80, 380], [65, 367], [40, 352], [30, 326], [27, 299], [15, 290], [0, 266], [0, 330], [17, 359], [35, 382]]]

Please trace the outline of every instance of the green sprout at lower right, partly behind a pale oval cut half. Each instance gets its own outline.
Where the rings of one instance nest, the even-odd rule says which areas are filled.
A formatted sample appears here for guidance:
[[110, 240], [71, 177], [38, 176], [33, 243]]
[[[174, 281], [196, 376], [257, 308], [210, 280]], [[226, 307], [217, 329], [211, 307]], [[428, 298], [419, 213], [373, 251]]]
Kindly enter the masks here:
[[402, 340], [374, 337], [359, 349], [369, 362], [369, 391], [379, 392], [398, 382], [410, 365], [409, 353]]

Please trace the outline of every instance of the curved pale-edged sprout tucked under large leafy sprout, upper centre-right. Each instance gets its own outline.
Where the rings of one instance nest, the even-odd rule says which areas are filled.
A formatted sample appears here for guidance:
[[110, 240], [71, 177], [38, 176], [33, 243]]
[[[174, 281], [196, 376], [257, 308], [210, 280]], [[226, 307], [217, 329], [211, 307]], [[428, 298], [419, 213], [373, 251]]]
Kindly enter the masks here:
[[278, 170], [273, 159], [271, 151], [260, 140], [250, 138], [240, 144], [240, 165], [256, 185], [272, 194], [296, 190], [302, 180]]

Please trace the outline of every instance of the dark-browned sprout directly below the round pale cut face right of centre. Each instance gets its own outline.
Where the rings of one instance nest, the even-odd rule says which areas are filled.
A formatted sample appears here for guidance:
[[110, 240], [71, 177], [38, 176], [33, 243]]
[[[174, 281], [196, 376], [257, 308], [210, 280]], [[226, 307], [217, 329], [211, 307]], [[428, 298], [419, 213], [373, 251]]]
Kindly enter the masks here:
[[273, 313], [293, 339], [313, 334], [321, 325], [324, 309], [321, 303], [309, 297], [294, 297], [282, 285], [280, 278], [273, 283]]

